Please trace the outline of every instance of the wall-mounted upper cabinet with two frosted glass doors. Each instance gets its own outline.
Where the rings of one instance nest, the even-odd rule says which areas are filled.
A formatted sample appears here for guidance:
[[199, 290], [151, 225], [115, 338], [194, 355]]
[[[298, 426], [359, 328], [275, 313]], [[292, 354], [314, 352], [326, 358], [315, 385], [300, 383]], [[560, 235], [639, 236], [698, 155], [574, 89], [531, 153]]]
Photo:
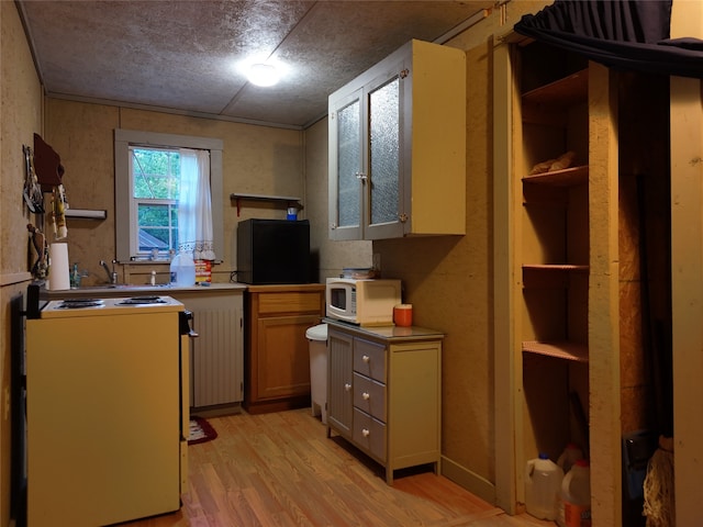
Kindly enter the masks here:
[[411, 41], [330, 96], [330, 238], [466, 234], [466, 56]]

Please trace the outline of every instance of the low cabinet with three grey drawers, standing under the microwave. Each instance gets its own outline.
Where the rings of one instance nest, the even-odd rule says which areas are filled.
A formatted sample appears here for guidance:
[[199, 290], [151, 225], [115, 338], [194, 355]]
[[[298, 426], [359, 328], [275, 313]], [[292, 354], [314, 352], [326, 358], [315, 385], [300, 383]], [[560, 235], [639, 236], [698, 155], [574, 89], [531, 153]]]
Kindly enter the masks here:
[[327, 435], [336, 431], [382, 464], [389, 485], [397, 469], [433, 463], [438, 473], [444, 335], [325, 322]]

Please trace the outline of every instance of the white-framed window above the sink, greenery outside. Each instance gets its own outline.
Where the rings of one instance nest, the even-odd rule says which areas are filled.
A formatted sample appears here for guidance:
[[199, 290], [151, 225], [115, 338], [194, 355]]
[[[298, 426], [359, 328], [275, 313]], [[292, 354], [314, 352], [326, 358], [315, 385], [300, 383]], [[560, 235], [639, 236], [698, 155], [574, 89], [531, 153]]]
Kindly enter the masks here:
[[210, 152], [214, 251], [223, 256], [222, 141], [115, 130], [115, 232], [119, 261], [166, 258], [178, 247], [179, 148]]

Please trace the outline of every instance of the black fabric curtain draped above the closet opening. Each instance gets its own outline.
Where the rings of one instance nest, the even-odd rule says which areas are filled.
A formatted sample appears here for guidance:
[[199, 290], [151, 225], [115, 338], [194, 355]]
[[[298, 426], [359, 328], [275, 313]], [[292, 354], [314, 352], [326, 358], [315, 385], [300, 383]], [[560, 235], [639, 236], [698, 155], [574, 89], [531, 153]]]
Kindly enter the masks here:
[[669, 38], [672, 0], [556, 0], [515, 32], [613, 69], [703, 78], [703, 41]]

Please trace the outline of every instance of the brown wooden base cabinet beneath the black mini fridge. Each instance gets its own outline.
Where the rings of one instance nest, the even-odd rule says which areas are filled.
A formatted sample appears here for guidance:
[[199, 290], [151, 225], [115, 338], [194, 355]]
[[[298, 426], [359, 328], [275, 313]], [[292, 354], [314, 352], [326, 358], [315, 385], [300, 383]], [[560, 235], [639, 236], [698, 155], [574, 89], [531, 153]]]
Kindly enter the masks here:
[[310, 405], [305, 332], [324, 314], [324, 284], [249, 285], [244, 408], [250, 414]]

